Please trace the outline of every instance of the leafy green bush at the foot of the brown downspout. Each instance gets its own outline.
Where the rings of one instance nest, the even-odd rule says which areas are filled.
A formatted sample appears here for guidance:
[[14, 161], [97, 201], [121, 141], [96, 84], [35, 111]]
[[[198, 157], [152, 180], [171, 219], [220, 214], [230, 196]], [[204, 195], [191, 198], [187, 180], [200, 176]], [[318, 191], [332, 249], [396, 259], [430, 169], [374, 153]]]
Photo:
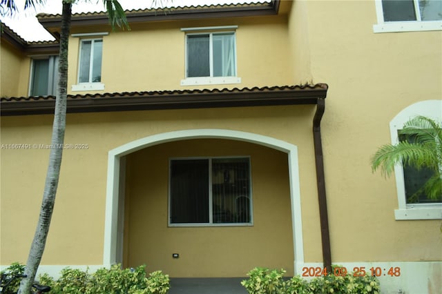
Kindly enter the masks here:
[[376, 277], [365, 275], [354, 277], [348, 275], [329, 275], [314, 277], [307, 281], [295, 276], [285, 280], [284, 270], [269, 268], [253, 268], [247, 275], [248, 280], [241, 282], [250, 294], [314, 294], [314, 293], [345, 293], [345, 294], [378, 294], [379, 281]]

